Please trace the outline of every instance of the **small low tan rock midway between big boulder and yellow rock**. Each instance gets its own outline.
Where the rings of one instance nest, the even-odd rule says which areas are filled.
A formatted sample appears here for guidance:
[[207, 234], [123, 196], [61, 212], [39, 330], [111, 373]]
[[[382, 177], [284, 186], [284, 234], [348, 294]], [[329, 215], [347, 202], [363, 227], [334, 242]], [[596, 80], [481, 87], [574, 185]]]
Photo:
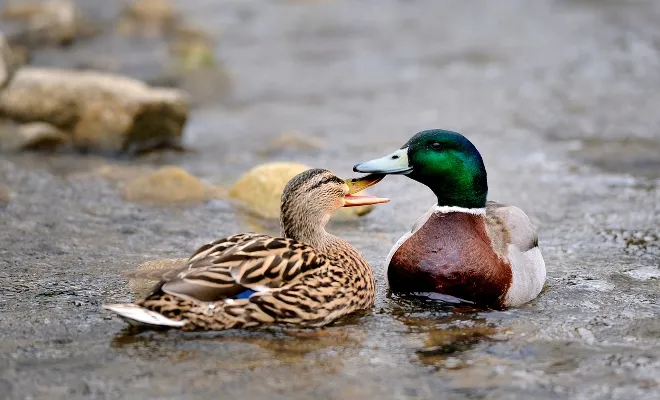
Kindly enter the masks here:
[[219, 189], [177, 167], [164, 167], [140, 176], [124, 188], [126, 200], [154, 205], [199, 204], [219, 196]]

